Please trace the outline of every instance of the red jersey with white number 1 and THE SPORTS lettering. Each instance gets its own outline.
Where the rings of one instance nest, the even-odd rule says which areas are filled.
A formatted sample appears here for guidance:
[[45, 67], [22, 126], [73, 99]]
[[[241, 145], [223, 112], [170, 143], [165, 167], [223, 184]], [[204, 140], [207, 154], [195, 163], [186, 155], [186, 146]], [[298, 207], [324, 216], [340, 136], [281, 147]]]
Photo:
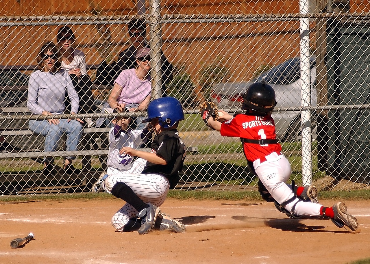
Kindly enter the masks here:
[[[221, 135], [246, 139], [276, 139], [275, 122], [270, 115], [255, 116], [236, 114], [221, 124]], [[247, 160], [253, 162], [272, 152], [281, 151], [279, 143], [259, 145], [243, 142], [243, 152]]]

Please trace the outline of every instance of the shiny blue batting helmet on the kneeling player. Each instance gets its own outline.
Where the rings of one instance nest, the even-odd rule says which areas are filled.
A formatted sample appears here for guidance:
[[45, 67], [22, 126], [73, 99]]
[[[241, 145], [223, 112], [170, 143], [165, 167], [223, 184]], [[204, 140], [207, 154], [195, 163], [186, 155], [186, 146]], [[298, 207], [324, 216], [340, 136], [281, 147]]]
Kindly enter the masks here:
[[158, 118], [162, 128], [170, 128], [177, 121], [184, 120], [184, 112], [178, 99], [174, 97], [161, 97], [151, 101], [148, 105], [148, 118], [142, 123], [151, 122]]

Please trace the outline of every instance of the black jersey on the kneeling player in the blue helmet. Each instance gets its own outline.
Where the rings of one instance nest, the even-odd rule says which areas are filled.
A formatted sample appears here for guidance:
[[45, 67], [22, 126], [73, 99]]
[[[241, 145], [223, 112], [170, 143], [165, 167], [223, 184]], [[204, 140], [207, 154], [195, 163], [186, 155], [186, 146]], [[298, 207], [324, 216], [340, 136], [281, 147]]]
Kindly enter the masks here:
[[142, 173], [161, 174], [168, 178], [170, 189], [174, 189], [180, 180], [179, 172], [184, 166], [186, 146], [181, 141], [176, 129], [165, 130], [154, 137], [151, 153], [161, 156], [167, 165], [147, 162]]

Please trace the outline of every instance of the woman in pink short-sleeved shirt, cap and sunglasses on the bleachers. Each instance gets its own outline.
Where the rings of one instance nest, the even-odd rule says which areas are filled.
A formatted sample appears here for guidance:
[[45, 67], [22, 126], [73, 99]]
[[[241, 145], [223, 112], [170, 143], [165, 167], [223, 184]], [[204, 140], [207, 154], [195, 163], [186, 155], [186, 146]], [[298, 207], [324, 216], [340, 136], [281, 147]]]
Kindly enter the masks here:
[[[150, 50], [141, 48], [136, 54], [137, 67], [123, 70], [115, 79], [113, 89], [108, 97], [108, 103], [111, 108], [118, 112], [146, 111], [151, 98], [150, 82]], [[141, 123], [144, 116], [138, 116], [136, 119], [138, 128], [142, 129], [145, 124]]]

